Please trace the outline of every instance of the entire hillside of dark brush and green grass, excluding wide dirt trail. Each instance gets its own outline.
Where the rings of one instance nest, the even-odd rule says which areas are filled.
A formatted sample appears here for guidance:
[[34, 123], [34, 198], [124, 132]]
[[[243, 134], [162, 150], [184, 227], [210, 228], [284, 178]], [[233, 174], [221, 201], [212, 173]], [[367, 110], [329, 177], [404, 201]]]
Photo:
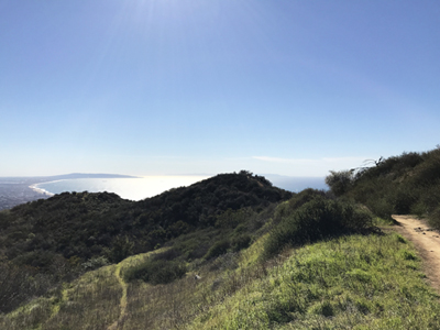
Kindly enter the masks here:
[[439, 160], [331, 172], [330, 191], [241, 172], [2, 211], [0, 329], [440, 329], [416, 250], [377, 227], [396, 211], [436, 223]]

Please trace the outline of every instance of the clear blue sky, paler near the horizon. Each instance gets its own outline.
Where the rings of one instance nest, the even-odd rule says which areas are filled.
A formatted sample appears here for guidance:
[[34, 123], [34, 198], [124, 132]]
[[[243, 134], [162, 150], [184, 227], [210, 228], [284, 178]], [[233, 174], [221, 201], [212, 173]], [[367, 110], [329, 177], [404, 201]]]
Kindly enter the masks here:
[[439, 135], [438, 0], [0, 0], [0, 176], [324, 176]]

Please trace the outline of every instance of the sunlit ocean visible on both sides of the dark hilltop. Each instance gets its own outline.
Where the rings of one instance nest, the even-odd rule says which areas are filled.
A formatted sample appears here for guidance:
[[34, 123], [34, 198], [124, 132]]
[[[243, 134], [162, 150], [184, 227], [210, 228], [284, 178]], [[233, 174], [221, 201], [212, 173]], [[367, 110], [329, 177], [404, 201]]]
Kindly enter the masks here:
[[[65, 191], [108, 191], [130, 200], [156, 196], [172, 188], [187, 187], [210, 176], [145, 176], [140, 178], [77, 178], [33, 185], [33, 189], [54, 195]], [[299, 193], [306, 188], [327, 189], [323, 177], [265, 175], [274, 186]]]

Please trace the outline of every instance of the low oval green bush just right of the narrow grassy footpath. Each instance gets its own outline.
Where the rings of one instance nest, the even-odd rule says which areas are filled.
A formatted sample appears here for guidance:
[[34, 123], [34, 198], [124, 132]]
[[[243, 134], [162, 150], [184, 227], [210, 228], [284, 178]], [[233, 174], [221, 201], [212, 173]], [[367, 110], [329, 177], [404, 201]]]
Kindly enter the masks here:
[[150, 258], [143, 264], [129, 268], [123, 276], [127, 282], [142, 279], [156, 285], [182, 278], [186, 271], [186, 266], [183, 263]]

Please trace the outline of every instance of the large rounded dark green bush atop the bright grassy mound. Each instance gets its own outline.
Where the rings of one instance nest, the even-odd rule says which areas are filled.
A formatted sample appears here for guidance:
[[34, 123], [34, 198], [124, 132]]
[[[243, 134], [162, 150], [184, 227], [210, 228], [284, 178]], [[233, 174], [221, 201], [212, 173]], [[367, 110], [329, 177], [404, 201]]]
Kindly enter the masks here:
[[367, 210], [350, 202], [316, 198], [282, 219], [265, 242], [264, 254], [271, 257], [286, 245], [301, 245], [359, 231], [371, 227], [372, 221], [373, 217]]

